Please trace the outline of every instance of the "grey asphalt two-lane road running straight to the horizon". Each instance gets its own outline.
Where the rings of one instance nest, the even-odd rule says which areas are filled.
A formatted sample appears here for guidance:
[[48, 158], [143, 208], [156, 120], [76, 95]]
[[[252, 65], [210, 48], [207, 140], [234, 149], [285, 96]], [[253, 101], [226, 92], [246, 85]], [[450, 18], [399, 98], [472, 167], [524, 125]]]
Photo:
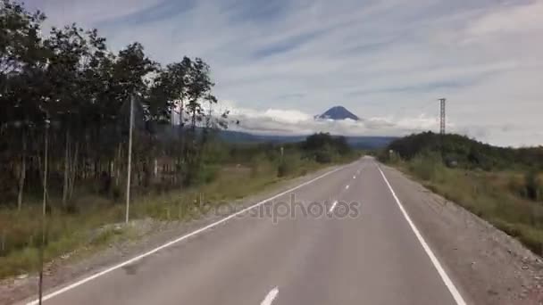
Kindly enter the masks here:
[[364, 157], [45, 304], [464, 304], [393, 190]]

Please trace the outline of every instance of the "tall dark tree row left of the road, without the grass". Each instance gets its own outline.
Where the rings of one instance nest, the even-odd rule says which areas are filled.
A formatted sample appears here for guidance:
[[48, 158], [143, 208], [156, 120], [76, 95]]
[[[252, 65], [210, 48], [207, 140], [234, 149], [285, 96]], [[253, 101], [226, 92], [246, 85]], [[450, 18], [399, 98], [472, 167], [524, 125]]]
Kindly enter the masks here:
[[227, 112], [213, 111], [210, 66], [186, 56], [161, 65], [138, 42], [113, 53], [96, 29], [75, 23], [43, 35], [44, 21], [1, 0], [0, 205], [21, 209], [42, 188], [46, 161], [49, 195], [63, 207], [78, 186], [119, 196], [132, 98], [134, 185], [195, 181], [213, 130], [228, 124]]

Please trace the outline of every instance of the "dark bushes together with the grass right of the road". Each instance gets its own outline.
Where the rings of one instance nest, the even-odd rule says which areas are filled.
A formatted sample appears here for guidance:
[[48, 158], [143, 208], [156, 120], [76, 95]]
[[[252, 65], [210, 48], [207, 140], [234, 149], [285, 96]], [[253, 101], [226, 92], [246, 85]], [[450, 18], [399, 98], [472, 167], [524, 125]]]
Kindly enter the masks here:
[[379, 158], [543, 254], [543, 147], [423, 133], [398, 139]]

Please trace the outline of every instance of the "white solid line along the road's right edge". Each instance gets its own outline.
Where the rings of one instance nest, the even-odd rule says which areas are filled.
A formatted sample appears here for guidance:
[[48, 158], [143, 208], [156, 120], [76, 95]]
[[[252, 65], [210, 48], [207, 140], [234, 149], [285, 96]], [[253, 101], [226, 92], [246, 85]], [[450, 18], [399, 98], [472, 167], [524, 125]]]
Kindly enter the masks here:
[[402, 214], [404, 215], [405, 220], [407, 220], [407, 223], [409, 224], [409, 227], [411, 227], [411, 229], [414, 232], [414, 235], [417, 236], [417, 239], [419, 240], [419, 243], [422, 244], [422, 248], [424, 249], [424, 251], [426, 251], [426, 254], [428, 254], [428, 257], [430, 258], [432, 264], [438, 270], [439, 276], [441, 276], [441, 279], [443, 280], [443, 283], [447, 286], [448, 291], [453, 295], [453, 298], [455, 299], [456, 304], [457, 305], [466, 305], [466, 302], [464, 301], [464, 298], [458, 292], [458, 289], [456, 289], [455, 284], [453, 284], [453, 281], [451, 281], [451, 279], [447, 276], [447, 273], [445, 272], [445, 269], [441, 266], [441, 263], [439, 263], [438, 258], [434, 255], [434, 252], [431, 251], [430, 246], [428, 245], [428, 243], [426, 243], [426, 241], [422, 237], [421, 233], [419, 232], [419, 229], [417, 229], [417, 227], [415, 227], [414, 222], [409, 217], [409, 214], [407, 214], [407, 211], [405, 211], [404, 206], [402, 205], [402, 202], [400, 202], [400, 200], [397, 198], [397, 195], [394, 192], [394, 189], [392, 189], [392, 186], [390, 185], [390, 183], [388, 183], [387, 177], [385, 176], [385, 174], [383, 173], [383, 171], [380, 169], [379, 166], [377, 167], [377, 169], [379, 169], [380, 175], [385, 180], [385, 183], [387, 183], [388, 189], [390, 190], [390, 194], [392, 194], [392, 196], [394, 197], [394, 199], [395, 199], [395, 201], [397, 203], [397, 206], [402, 211]]

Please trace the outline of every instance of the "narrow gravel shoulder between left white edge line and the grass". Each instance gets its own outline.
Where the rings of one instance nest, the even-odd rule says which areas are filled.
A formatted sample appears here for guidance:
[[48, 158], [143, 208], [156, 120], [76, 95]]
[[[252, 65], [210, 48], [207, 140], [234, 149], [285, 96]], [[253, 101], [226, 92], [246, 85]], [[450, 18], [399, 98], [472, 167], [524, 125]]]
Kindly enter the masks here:
[[[270, 186], [266, 191], [238, 200], [231, 206], [235, 207], [236, 210], [242, 210], [338, 167], [320, 169], [304, 177], [282, 181], [279, 184]], [[132, 232], [130, 238], [123, 238], [120, 242], [111, 243], [104, 250], [94, 251], [93, 254], [85, 253], [85, 250], [69, 253], [48, 264], [45, 271], [44, 289], [47, 292], [55, 287], [100, 272], [142, 252], [155, 249], [181, 235], [205, 227], [221, 218], [224, 218], [224, 215], [210, 213], [202, 218], [187, 222], [163, 222], [150, 218], [135, 220], [130, 224], [129, 229]], [[79, 252], [83, 252], [83, 254], [79, 254]], [[0, 282], [0, 304], [13, 304], [37, 295], [38, 275], [18, 276]]]

